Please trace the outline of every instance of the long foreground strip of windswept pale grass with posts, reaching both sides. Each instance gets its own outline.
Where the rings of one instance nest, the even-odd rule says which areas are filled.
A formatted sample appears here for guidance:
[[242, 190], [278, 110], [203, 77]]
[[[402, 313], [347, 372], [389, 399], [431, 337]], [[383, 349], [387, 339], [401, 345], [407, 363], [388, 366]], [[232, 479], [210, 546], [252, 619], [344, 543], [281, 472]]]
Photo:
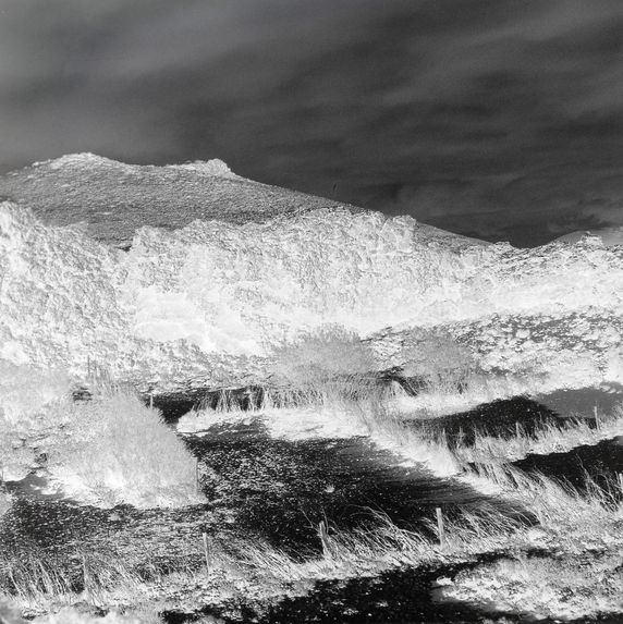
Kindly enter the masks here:
[[443, 545], [433, 517], [422, 530], [412, 531], [379, 515], [374, 526], [354, 531], [325, 527], [319, 530], [321, 554], [296, 559], [254, 539], [217, 537], [207, 568], [199, 536], [179, 542], [181, 550], [168, 552], [166, 563], [141, 548], [117, 552], [112, 543], [76, 548], [62, 559], [44, 550], [27, 556], [15, 553], [5, 558], [0, 571], [0, 598], [10, 598], [32, 613], [85, 599], [101, 608], [156, 599], [205, 604], [207, 597], [212, 603], [224, 603], [249, 592], [264, 598], [283, 591], [302, 594], [318, 579], [375, 576], [405, 565], [430, 568], [478, 561], [482, 554], [522, 558], [535, 547], [559, 559], [582, 552], [612, 553], [623, 547], [623, 497], [614, 491], [589, 485], [587, 493], [581, 494], [543, 476], [506, 467], [481, 468], [474, 478], [494, 484], [525, 515], [482, 503], [453, 510], [443, 514]]

